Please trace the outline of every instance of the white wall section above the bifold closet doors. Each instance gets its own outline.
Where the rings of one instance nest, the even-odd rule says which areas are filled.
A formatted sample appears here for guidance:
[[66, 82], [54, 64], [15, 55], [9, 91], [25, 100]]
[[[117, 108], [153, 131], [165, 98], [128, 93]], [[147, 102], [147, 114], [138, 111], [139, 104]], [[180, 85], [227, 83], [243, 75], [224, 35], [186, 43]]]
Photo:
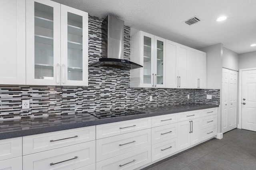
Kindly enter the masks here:
[[228, 68], [228, 69], [238, 71], [238, 69], [239, 69], [239, 55], [238, 55], [238, 53], [223, 47], [222, 66], [224, 68]]

